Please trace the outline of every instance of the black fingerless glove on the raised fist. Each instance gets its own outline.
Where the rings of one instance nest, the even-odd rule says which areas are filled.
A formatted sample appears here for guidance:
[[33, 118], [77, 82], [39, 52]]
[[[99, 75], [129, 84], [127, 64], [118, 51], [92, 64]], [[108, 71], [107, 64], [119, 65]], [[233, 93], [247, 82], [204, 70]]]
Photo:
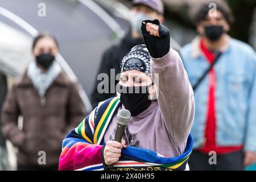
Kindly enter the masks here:
[[142, 23], [141, 31], [144, 43], [153, 58], [165, 56], [170, 51], [170, 31], [166, 26], [160, 24], [158, 19], [144, 20], [145, 23], [153, 23], [159, 26], [159, 36], [150, 35], [146, 30], [146, 24]]

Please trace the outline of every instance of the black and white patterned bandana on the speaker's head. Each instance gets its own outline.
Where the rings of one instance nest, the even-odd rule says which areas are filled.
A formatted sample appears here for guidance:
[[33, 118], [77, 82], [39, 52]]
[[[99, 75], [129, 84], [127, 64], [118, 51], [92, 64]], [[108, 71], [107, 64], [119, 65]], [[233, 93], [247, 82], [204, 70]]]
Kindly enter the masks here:
[[146, 45], [138, 45], [131, 49], [121, 62], [121, 73], [137, 70], [150, 75], [150, 54]]

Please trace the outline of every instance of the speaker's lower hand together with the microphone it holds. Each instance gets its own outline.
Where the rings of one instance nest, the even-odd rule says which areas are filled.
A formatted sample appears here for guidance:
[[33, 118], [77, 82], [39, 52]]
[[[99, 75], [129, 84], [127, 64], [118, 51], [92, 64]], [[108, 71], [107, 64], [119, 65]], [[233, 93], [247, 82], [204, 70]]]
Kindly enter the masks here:
[[106, 146], [104, 148], [104, 160], [108, 166], [117, 162], [121, 157], [121, 149], [126, 148], [126, 143], [125, 140], [122, 139], [122, 136], [130, 118], [131, 113], [129, 110], [121, 109], [118, 111], [117, 133], [115, 134], [115, 140], [106, 142]]

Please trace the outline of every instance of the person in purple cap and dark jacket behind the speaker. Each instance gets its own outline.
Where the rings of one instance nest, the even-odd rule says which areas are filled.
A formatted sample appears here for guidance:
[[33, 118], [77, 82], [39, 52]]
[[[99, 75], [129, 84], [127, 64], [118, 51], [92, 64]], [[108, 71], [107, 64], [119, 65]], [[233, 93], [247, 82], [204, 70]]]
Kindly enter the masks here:
[[[106, 99], [115, 95], [115, 86], [114, 88], [110, 88], [110, 69], [114, 69], [114, 75], [112, 77], [115, 78], [115, 76], [120, 73], [119, 65], [126, 53], [129, 52], [134, 46], [143, 44], [141, 34], [142, 20], [158, 19], [160, 23], [163, 23], [164, 5], [161, 0], [133, 0], [132, 4], [133, 6], [130, 10], [130, 31], [121, 40], [118, 40], [117, 43], [106, 49], [102, 56], [100, 69], [98, 70], [97, 76], [100, 73], [106, 73], [109, 76], [109, 88], [108, 93], [98, 93], [97, 87], [101, 80], [96, 81], [91, 96], [93, 107], [96, 107], [99, 102], [105, 101]], [[117, 85], [117, 83], [118, 80], [115, 80], [115, 85]]]

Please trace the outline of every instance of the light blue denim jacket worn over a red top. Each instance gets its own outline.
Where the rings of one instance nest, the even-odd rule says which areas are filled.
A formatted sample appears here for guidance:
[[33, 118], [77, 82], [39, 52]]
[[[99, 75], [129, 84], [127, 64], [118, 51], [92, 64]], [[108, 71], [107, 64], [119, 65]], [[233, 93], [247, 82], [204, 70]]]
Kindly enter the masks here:
[[[216, 143], [218, 146], [238, 146], [256, 151], [256, 55], [253, 48], [226, 36], [226, 46], [214, 66], [216, 74]], [[201, 53], [199, 39], [181, 51], [184, 67], [194, 85], [209, 67]], [[209, 75], [195, 90], [195, 120], [191, 134], [194, 148], [205, 141]]]

